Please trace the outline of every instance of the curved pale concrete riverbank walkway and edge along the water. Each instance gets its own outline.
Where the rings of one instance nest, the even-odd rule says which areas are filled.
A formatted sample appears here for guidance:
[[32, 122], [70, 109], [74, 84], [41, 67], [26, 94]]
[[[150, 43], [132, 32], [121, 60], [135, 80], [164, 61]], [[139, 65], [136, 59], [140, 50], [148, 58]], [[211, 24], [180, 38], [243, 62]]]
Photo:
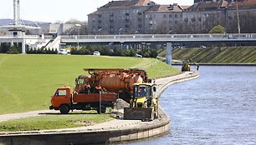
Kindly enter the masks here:
[[[198, 75], [198, 72], [184, 72], [177, 76], [159, 78], [156, 80], [157, 93], [160, 96], [161, 92], [172, 83], [193, 79], [198, 77]], [[88, 144], [150, 138], [170, 131], [170, 118], [162, 109], [160, 109], [159, 115], [159, 119], [151, 122], [114, 119], [110, 122], [102, 122], [94, 126], [81, 128], [0, 133], [0, 144]]]

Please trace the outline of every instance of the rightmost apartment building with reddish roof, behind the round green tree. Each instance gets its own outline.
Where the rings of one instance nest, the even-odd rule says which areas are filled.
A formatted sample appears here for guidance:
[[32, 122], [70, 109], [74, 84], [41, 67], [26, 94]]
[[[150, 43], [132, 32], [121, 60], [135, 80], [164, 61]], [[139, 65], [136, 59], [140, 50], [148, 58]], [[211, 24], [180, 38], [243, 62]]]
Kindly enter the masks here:
[[188, 33], [209, 32], [221, 25], [226, 32], [256, 32], [256, 0], [217, 0], [197, 2], [183, 13], [183, 28]]

